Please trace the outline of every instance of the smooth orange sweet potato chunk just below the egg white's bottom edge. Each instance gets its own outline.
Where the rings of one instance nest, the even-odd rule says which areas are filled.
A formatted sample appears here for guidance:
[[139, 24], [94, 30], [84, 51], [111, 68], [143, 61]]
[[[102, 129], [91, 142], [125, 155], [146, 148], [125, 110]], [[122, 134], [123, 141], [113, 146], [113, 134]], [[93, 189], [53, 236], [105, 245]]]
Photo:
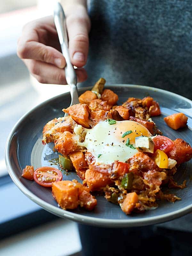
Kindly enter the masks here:
[[85, 180], [91, 191], [99, 190], [101, 187], [111, 183], [108, 174], [100, 173], [90, 169], [85, 172]]

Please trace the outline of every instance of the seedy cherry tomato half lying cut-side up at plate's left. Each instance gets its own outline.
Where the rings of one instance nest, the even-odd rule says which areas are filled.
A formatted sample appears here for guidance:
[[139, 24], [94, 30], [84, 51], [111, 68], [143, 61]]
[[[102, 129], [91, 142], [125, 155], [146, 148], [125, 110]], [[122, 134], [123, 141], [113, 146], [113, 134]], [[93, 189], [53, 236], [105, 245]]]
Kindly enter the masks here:
[[34, 171], [33, 178], [39, 185], [51, 187], [52, 182], [62, 180], [62, 173], [57, 168], [44, 166]]

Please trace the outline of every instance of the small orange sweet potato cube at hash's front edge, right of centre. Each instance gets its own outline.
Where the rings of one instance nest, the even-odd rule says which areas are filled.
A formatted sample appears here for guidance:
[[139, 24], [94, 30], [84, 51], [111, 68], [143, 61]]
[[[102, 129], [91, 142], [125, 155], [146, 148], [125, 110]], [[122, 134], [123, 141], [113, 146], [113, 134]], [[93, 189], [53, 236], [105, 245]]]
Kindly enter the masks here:
[[128, 193], [123, 201], [122, 204], [120, 204], [121, 206], [121, 210], [125, 213], [125, 214], [130, 214], [134, 207], [135, 204], [138, 202], [138, 195], [135, 192], [132, 193]]

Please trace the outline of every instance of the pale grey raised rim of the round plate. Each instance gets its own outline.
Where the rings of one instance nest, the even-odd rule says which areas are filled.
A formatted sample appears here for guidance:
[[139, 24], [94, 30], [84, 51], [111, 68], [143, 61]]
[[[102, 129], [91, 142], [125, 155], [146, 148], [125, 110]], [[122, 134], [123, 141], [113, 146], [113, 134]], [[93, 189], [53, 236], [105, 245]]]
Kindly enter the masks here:
[[[132, 87], [132, 88], [142, 88], [142, 89], [146, 89], [149, 91], [156, 91], [156, 92], [162, 92], [165, 94], [168, 94], [170, 96], [174, 96], [176, 98], [180, 98], [182, 100], [187, 101], [188, 103], [190, 103], [192, 105], [192, 101], [180, 96], [179, 94], [176, 94], [174, 92], [169, 92], [163, 89], [159, 89], [159, 88], [155, 88], [155, 87], [149, 87], [149, 86], [144, 86], [144, 85], [135, 85], [135, 84], [108, 84], [105, 87], [116, 87], [116, 86], [124, 86], [124, 87]], [[86, 89], [90, 89], [92, 88], [92, 86], [89, 87], [81, 87], [78, 88], [78, 92], [84, 91]], [[10, 177], [12, 178], [13, 182], [15, 183], [15, 185], [26, 195], [28, 196], [28, 198], [30, 198], [33, 202], [35, 202], [36, 204], [38, 204], [39, 206], [41, 206], [42, 208], [44, 208], [45, 210], [47, 210], [48, 212], [51, 212], [52, 214], [55, 214], [59, 217], [62, 218], [67, 218], [70, 220], [74, 220], [77, 222], [81, 222], [82, 224], [90, 224], [90, 225], [94, 225], [94, 226], [102, 226], [102, 227], [136, 227], [136, 226], [146, 226], [146, 225], [150, 225], [150, 224], [158, 224], [158, 223], [162, 223], [165, 221], [169, 221], [169, 220], [173, 220], [176, 218], [179, 218], [189, 212], [192, 211], [192, 203], [189, 204], [188, 206], [185, 206], [179, 210], [170, 212], [170, 213], [164, 213], [161, 215], [157, 215], [157, 216], [152, 216], [152, 217], [146, 217], [146, 218], [138, 218], [138, 219], [123, 219], [123, 220], [119, 220], [119, 219], [101, 219], [101, 218], [97, 218], [97, 217], [90, 217], [90, 216], [85, 216], [79, 213], [74, 213], [74, 212], [69, 212], [67, 210], [63, 210], [59, 207], [56, 207], [52, 204], [49, 204], [47, 202], [45, 202], [43, 199], [39, 198], [38, 196], [34, 195], [28, 188], [26, 188], [21, 182], [20, 179], [17, 177], [17, 175], [15, 174], [14, 170], [12, 169], [11, 163], [9, 161], [9, 149], [10, 149], [10, 141], [12, 140], [12, 138], [14, 137], [14, 134], [17, 131], [17, 127], [19, 126], [20, 122], [22, 122], [28, 115], [30, 115], [30, 113], [32, 113], [33, 111], [35, 111], [38, 108], [41, 108], [43, 105], [46, 105], [49, 101], [54, 100], [62, 95], [66, 95], [66, 94], [70, 94], [70, 92], [65, 92], [63, 94], [59, 94], [57, 96], [54, 96], [48, 100], [45, 100], [43, 102], [41, 102], [40, 104], [38, 104], [37, 106], [35, 106], [34, 108], [32, 108], [31, 110], [29, 110], [26, 114], [24, 114], [18, 121], [17, 123], [13, 126], [7, 141], [6, 141], [6, 145], [5, 145], [5, 163], [6, 163], [6, 167], [7, 170], [9, 172]], [[191, 116], [192, 117], [192, 116]]]

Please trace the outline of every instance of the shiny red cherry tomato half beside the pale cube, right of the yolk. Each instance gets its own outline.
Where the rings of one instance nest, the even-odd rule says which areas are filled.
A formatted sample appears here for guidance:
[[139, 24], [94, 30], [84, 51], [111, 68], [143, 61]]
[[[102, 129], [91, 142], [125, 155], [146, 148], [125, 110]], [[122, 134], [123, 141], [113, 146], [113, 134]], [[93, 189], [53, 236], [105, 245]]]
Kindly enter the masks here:
[[156, 152], [157, 149], [160, 149], [160, 150], [164, 151], [165, 153], [168, 153], [174, 147], [173, 141], [165, 136], [157, 135], [152, 140], [155, 143], [154, 152]]

